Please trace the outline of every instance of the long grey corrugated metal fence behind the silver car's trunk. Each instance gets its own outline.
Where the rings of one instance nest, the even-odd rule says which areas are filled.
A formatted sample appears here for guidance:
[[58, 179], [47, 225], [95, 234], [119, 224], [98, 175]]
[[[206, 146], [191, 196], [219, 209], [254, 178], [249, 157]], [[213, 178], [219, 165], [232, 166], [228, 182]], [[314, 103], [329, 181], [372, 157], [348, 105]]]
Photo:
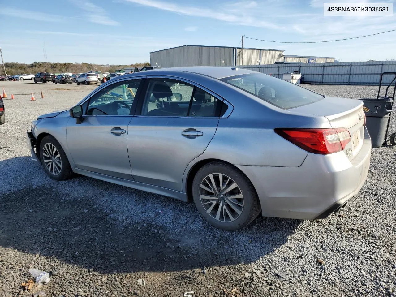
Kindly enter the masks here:
[[[288, 72], [299, 71], [303, 75], [303, 82], [308, 84], [378, 85], [381, 73], [396, 72], [396, 61], [290, 63], [245, 65], [238, 68], [255, 70], [279, 78]], [[389, 83], [392, 78], [384, 76], [383, 83]]]

